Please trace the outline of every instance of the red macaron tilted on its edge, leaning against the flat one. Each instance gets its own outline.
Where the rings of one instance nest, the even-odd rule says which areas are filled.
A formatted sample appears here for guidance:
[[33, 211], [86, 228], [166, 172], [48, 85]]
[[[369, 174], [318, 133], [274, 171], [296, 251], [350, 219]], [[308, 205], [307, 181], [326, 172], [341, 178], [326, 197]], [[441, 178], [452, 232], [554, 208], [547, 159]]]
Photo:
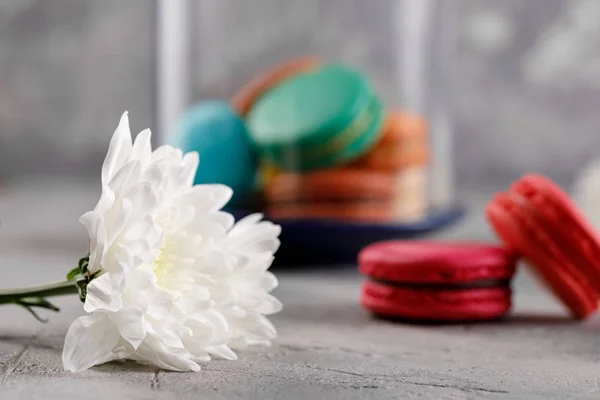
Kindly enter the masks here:
[[575, 318], [600, 300], [600, 238], [577, 206], [548, 178], [529, 174], [487, 205], [507, 246], [522, 254]]

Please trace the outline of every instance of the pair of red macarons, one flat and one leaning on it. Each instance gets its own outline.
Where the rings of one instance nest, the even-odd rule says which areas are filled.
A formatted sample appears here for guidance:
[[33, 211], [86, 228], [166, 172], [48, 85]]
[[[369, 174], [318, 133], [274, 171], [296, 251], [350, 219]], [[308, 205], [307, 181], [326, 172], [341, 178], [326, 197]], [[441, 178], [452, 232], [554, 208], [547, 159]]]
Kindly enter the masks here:
[[558, 185], [525, 175], [498, 193], [486, 214], [502, 246], [389, 241], [363, 249], [363, 306], [404, 320], [497, 319], [510, 310], [510, 280], [521, 259], [573, 318], [597, 311], [600, 236]]

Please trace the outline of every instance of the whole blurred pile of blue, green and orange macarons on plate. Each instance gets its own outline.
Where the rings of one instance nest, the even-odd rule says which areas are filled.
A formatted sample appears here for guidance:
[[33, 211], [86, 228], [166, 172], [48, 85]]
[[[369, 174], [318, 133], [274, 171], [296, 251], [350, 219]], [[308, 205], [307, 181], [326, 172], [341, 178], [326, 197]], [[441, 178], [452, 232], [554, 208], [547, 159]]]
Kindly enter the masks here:
[[170, 144], [199, 153], [196, 184], [226, 184], [230, 206], [274, 219], [391, 223], [427, 211], [425, 118], [386, 109], [346, 65], [276, 65], [229, 102], [188, 110]]

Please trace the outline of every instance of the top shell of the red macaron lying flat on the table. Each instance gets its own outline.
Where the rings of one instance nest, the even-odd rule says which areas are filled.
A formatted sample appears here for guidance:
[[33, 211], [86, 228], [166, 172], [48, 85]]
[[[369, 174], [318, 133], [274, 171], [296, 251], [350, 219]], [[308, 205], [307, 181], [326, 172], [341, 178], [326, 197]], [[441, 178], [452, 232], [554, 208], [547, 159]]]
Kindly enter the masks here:
[[516, 261], [516, 254], [503, 247], [475, 242], [392, 240], [367, 246], [358, 255], [364, 275], [416, 283], [508, 279]]

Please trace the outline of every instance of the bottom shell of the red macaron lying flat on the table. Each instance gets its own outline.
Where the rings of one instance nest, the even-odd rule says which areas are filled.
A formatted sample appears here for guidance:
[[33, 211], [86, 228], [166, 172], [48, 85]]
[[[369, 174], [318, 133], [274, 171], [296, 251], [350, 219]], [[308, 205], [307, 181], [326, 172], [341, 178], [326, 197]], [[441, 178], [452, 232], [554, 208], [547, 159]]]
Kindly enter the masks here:
[[386, 317], [438, 322], [482, 321], [504, 316], [510, 288], [413, 290], [365, 282], [362, 305]]

